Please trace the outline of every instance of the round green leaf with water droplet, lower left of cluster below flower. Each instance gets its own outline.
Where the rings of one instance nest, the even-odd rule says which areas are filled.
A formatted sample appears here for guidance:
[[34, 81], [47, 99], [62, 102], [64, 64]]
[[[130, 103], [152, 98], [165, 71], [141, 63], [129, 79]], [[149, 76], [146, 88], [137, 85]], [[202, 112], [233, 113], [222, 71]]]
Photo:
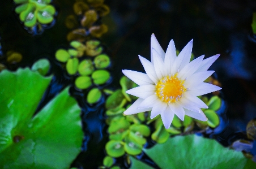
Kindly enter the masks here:
[[110, 140], [106, 143], [105, 149], [110, 157], [117, 158], [125, 154], [122, 141]]

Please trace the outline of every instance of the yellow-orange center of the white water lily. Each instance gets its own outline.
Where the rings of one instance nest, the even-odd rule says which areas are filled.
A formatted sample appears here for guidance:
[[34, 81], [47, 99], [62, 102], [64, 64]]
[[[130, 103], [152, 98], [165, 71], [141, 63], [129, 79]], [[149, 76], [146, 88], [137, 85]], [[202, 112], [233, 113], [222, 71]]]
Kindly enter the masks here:
[[156, 84], [155, 94], [161, 101], [166, 103], [176, 102], [183, 97], [183, 93], [186, 91], [185, 80], [180, 80], [177, 75], [178, 73], [175, 73], [172, 76], [164, 77]]

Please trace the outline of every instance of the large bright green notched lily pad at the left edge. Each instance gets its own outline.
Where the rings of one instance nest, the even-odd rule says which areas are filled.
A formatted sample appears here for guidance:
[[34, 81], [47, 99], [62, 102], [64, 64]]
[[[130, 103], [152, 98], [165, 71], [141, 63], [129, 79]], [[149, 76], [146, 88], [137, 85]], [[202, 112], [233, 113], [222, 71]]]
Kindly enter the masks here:
[[78, 155], [80, 108], [68, 88], [33, 116], [51, 79], [28, 68], [0, 73], [0, 168], [68, 168]]

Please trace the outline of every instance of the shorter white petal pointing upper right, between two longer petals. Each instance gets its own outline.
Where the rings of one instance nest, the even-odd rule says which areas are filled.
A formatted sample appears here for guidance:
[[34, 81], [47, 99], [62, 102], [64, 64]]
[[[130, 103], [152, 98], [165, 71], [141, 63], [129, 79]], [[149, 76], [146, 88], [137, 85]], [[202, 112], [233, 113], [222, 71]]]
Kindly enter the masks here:
[[182, 70], [178, 73], [178, 77], [180, 77], [181, 80], [186, 79], [186, 77], [189, 77], [190, 75], [193, 75], [195, 71], [197, 71], [200, 63], [203, 60], [204, 55], [198, 57], [197, 59], [192, 60], [189, 64], [187, 64]]

